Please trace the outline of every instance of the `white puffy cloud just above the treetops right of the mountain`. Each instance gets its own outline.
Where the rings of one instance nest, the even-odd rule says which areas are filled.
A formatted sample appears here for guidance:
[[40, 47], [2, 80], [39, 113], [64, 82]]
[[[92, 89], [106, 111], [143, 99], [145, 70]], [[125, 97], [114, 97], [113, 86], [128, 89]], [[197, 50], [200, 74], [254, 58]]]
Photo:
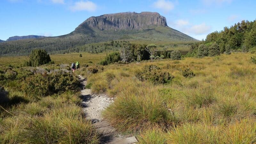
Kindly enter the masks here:
[[188, 32], [191, 34], [201, 35], [201, 34], [207, 34], [211, 30], [211, 26], [207, 26], [205, 23], [191, 26], [191, 28], [188, 29]]

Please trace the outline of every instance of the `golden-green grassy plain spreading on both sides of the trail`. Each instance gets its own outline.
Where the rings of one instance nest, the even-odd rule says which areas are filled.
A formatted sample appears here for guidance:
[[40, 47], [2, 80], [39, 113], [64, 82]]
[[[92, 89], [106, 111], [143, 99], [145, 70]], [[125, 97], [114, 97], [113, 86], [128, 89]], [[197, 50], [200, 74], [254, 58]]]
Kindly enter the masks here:
[[[105, 56], [82, 55], [80, 60], [79, 53], [52, 55], [51, 58], [57, 64], [76, 60], [97, 63]], [[96, 74], [89, 72], [90, 67], [82, 67], [76, 74], [88, 78], [87, 84], [94, 93], [115, 97], [103, 116], [117, 130], [137, 134], [139, 143], [255, 143], [256, 65], [250, 61], [254, 55], [232, 53], [201, 59], [185, 57], [182, 60], [113, 64], [104, 66], [104, 70]], [[6, 62], [17, 60], [17, 57], [4, 58]], [[165, 84], [154, 84], [152, 79], [140, 81], [138, 71], [145, 70], [148, 65], [155, 65], [165, 74], [168, 72], [172, 79]], [[91, 67], [97, 68], [93, 64]], [[184, 70], [188, 68], [194, 75], [185, 77]], [[12, 76], [10, 69], [3, 71], [7, 72], [4, 77]], [[160, 80], [162, 73], [153, 73], [153, 76]], [[71, 140], [75, 143], [88, 140], [88, 143], [99, 143], [100, 136], [84, 120], [75, 93], [29, 96], [22, 91], [22, 81], [4, 80], [1, 84], [12, 101], [4, 107], [11, 114], [0, 110], [1, 142], [66, 143]], [[80, 139], [81, 136], [84, 137]]]

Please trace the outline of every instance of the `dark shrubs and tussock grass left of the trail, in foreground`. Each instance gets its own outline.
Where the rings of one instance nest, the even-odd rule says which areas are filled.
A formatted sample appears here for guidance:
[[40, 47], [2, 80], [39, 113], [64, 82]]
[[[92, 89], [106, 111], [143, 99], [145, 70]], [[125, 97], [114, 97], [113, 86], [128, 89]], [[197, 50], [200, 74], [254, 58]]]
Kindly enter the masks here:
[[1, 65], [0, 143], [100, 142], [80, 107], [78, 79], [64, 68]]

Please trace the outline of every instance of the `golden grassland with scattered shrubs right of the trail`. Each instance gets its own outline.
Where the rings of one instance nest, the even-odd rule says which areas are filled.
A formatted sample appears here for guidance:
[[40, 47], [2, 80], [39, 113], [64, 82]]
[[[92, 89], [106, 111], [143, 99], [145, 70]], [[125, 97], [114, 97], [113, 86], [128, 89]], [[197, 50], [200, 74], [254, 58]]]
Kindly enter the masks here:
[[[93, 92], [116, 97], [105, 118], [119, 131], [138, 133], [140, 143], [254, 143], [251, 56], [108, 65], [88, 82]], [[159, 82], [167, 75], [157, 72], [172, 78]]]

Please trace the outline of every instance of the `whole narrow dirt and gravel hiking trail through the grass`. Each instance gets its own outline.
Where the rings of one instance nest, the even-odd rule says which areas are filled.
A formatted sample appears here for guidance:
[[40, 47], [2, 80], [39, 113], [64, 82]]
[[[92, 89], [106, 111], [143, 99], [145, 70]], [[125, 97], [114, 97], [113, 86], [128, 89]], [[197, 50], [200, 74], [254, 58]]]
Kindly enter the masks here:
[[112, 102], [113, 98], [108, 98], [106, 94], [93, 94], [91, 89], [86, 89], [87, 80], [79, 75], [81, 83], [81, 97], [83, 99], [83, 111], [88, 120], [91, 120], [94, 127], [101, 134], [102, 144], [134, 144], [138, 141], [136, 138], [129, 137], [118, 133], [107, 121], [101, 116], [102, 111], [107, 108]]

